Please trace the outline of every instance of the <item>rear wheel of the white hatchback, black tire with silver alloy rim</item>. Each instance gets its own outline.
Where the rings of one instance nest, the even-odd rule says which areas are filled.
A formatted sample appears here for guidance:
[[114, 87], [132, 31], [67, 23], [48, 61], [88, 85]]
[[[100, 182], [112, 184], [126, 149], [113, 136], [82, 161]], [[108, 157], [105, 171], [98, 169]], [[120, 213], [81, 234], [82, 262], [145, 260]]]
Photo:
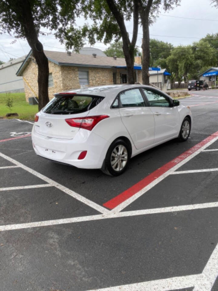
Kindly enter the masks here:
[[130, 153], [131, 150], [127, 142], [123, 139], [116, 139], [107, 150], [102, 172], [111, 176], [123, 174], [129, 164]]

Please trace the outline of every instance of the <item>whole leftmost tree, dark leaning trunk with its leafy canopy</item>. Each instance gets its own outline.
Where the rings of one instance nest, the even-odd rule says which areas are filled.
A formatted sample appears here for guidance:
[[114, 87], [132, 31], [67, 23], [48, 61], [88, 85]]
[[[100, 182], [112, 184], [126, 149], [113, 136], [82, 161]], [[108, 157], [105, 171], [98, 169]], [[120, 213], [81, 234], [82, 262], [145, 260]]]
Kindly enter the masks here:
[[[48, 99], [48, 59], [38, 40], [41, 28], [55, 30], [61, 39], [68, 25], [73, 26], [80, 14], [78, 1], [71, 0], [2, 0], [0, 1], [0, 32], [26, 38], [38, 65], [39, 110]], [[78, 45], [77, 43], [75, 45]]]

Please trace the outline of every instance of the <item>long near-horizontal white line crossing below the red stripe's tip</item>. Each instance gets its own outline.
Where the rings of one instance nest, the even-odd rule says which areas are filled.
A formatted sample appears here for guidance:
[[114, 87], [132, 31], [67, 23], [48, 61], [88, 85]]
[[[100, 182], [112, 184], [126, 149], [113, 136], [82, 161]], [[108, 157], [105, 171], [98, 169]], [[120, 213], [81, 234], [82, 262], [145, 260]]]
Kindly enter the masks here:
[[149, 214], [197, 210], [197, 209], [214, 208], [214, 207], [218, 207], [218, 202], [170, 206], [170, 207], [125, 211], [125, 212], [117, 212], [117, 213], [113, 213], [112, 211], [110, 211], [110, 213], [108, 214], [97, 214], [97, 215], [90, 215], [90, 216], [45, 220], [45, 221], [28, 222], [28, 223], [21, 223], [21, 224], [1, 225], [0, 231], [25, 229], [25, 228], [41, 227], [41, 226], [51, 226], [51, 225], [58, 225], [58, 224], [65, 224], [65, 223], [77, 223], [77, 222], [100, 220], [100, 219], [113, 219], [113, 218], [122, 218], [122, 217], [130, 217], [130, 216], [141, 216], [141, 215], [149, 215]]

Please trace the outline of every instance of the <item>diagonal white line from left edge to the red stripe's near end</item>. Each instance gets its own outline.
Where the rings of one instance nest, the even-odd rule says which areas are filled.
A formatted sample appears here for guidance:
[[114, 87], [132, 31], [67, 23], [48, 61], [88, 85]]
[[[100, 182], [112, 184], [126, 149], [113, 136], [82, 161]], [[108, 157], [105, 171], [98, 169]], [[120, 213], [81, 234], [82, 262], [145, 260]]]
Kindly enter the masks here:
[[51, 184], [51, 186], [54, 186], [54, 187], [60, 189], [61, 191], [67, 193], [68, 195], [72, 196], [73, 198], [79, 200], [80, 202], [90, 206], [91, 208], [94, 208], [98, 212], [100, 212], [100, 213], [109, 213], [110, 212], [110, 210], [108, 210], [108, 209], [98, 205], [97, 203], [95, 203], [95, 202], [93, 202], [93, 201], [81, 196], [80, 194], [74, 192], [71, 189], [68, 189], [67, 187], [55, 182], [54, 180], [49, 179], [48, 177], [40, 174], [39, 172], [36, 172], [35, 170], [33, 170], [33, 169], [21, 164], [20, 162], [18, 162], [16, 160], [14, 160], [14, 159], [2, 154], [1, 152], [0, 152], [0, 156], [2, 158], [4, 158], [4, 159], [8, 160], [9, 162], [12, 162], [13, 164], [21, 167], [22, 169], [26, 170], [27, 172], [35, 175], [36, 177], [42, 179], [43, 181], [47, 182], [48, 184]]

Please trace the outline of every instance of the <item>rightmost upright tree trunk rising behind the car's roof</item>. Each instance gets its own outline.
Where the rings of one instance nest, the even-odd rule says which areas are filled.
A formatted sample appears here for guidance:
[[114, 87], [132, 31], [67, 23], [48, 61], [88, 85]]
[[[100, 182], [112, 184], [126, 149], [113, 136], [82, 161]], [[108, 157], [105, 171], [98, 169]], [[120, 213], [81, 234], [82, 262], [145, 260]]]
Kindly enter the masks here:
[[[142, 19], [142, 28], [143, 28], [143, 40], [142, 40], [142, 83], [144, 85], [149, 85], [149, 63], [150, 63], [150, 36], [149, 36], [149, 25], [148, 25], [148, 16], [146, 13], [141, 13]], [[147, 19], [146, 19], [147, 18]]]

